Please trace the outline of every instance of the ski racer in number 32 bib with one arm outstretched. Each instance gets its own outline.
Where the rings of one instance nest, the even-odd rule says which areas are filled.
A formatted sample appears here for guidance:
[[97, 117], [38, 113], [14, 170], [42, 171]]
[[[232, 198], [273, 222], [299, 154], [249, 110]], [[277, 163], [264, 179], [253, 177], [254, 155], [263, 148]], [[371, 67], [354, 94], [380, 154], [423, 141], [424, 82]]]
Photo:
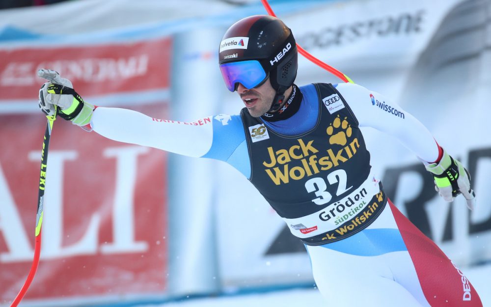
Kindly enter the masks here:
[[472, 209], [464, 166], [380, 93], [350, 83], [294, 84], [297, 57], [281, 20], [250, 16], [219, 46], [225, 85], [245, 106], [240, 114], [183, 123], [96, 107], [48, 69], [38, 72], [49, 81], [39, 107], [111, 140], [235, 167], [305, 244], [329, 306], [482, 307], [462, 271], [387, 198], [360, 127], [397, 138], [433, 174], [439, 195], [462, 194]]

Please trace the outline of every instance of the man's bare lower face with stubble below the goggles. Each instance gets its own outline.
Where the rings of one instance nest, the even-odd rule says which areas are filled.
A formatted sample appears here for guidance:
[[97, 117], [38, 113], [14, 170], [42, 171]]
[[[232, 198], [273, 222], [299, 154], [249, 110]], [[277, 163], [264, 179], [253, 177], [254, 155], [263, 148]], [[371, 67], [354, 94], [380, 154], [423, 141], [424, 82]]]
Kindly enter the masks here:
[[244, 101], [249, 114], [253, 117], [259, 117], [270, 110], [276, 91], [271, 86], [271, 81], [268, 78], [262, 85], [251, 89], [247, 89], [239, 83], [237, 93]]

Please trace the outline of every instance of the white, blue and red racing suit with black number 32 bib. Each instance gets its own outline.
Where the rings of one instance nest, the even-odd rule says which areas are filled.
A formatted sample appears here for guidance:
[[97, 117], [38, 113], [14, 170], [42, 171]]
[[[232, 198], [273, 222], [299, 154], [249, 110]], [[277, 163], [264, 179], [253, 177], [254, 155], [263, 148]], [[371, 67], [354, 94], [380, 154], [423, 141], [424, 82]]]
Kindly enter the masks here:
[[243, 173], [305, 244], [329, 306], [482, 307], [462, 271], [397, 210], [371, 170], [359, 127], [395, 137], [423, 161], [438, 159], [418, 120], [356, 84], [294, 86], [282, 111], [178, 122], [99, 107], [91, 126], [112, 140], [225, 161]]

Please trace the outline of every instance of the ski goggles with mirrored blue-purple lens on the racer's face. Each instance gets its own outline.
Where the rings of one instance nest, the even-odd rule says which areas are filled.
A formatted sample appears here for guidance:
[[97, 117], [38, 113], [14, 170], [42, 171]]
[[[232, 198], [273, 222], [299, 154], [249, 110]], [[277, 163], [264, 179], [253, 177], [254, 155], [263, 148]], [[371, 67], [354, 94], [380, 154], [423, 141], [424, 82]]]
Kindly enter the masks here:
[[251, 89], [268, 79], [268, 74], [257, 60], [224, 63], [220, 65], [220, 71], [225, 85], [231, 92], [236, 90], [238, 83]]

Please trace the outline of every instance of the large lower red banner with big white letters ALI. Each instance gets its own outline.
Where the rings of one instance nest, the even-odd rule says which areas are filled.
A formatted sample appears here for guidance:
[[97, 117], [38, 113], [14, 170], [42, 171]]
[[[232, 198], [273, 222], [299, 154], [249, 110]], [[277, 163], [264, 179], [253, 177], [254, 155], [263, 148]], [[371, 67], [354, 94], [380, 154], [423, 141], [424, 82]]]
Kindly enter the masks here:
[[[37, 114], [1, 116], [0, 302], [15, 297], [31, 265], [44, 128]], [[165, 173], [163, 151], [107, 140], [57, 119], [41, 261], [26, 298], [162, 292]]]

